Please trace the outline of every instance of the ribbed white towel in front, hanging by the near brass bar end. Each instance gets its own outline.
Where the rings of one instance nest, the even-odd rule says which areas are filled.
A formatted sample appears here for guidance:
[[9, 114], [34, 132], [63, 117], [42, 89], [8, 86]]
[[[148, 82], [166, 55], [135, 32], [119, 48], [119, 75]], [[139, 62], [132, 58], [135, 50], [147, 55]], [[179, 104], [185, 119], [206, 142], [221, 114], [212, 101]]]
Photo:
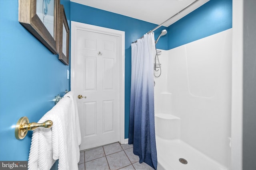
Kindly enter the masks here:
[[[38, 121], [52, 120], [51, 129], [38, 128], [32, 135], [29, 170], [50, 170], [55, 160], [59, 160], [59, 170], [78, 170], [77, 144], [72, 129], [75, 119], [72, 116], [72, 100], [62, 98]], [[75, 159], [74, 159], [75, 158]]]

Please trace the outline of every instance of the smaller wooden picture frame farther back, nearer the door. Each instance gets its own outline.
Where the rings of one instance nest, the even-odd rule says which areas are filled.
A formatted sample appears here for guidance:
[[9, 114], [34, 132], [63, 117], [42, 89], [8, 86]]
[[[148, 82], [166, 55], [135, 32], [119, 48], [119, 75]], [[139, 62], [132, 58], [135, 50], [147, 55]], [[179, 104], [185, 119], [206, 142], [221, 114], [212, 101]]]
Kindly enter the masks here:
[[64, 6], [60, 5], [60, 22], [59, 22], [59, 60], [65, 65], [69, 64], [69, 27], [66, 18]]

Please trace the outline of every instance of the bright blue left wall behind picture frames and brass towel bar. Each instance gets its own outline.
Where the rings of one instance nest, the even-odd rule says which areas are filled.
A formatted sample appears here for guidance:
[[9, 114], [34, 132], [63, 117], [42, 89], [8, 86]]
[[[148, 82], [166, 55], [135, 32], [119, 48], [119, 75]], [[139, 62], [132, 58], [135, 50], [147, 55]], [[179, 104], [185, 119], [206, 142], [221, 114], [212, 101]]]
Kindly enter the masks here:
[[[70, 24], [70, 1], [61, 4]], [[13, 125], [22, 116], [37, 122], [70, 90], [67, 70], [18, 22], [18, 0], [0, 0], [0, 160], [28, 160], [32, 133], [18, 141]]]

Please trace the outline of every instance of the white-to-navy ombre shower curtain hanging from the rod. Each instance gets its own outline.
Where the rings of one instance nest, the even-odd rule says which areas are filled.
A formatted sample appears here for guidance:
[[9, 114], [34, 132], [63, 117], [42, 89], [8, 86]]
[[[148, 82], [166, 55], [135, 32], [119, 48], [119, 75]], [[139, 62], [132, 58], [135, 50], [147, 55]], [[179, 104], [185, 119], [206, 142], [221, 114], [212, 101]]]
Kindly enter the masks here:
[[154, 122], [154, 33], [132, 43], [129, 144], [133, 152], [152, 168], [157, 167]]

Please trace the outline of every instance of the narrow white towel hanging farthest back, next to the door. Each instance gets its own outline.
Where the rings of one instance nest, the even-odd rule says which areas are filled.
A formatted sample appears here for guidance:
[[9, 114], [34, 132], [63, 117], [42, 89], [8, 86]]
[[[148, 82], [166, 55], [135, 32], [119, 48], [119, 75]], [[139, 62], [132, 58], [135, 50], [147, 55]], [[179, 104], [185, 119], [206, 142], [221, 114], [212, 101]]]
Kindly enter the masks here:
[[76, 104], [76, 99], [74, 96], [74, 92], [68, 92], [64, 97], [69, 97], [72, 101], [71, 104], [71, 114], [73, 116], [73, 135], [74, 135], [74, 149], [76, 150], [76, 160], [78, 163], [80, 160], [80, 150], [79, 145], [81, 144], [81, 131], [80, 131], [80, 123], [79, 123], [79, 116], [78, 116], [78, 109]]

